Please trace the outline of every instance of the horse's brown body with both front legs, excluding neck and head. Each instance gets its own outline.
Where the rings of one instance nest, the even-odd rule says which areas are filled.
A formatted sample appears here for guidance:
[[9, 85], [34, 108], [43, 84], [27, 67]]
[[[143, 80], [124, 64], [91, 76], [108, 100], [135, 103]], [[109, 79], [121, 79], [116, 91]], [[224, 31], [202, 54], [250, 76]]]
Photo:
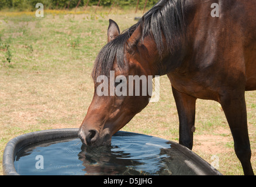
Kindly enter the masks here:
[[[196, 14], [209, 14], [211, 3], [202, 4]], [[179, 113], [179, 143], [192, 148], [195, 99], [217, 101], [229, 122], [245, 174], [253, 174], [244, 92], [256, 89], [256, 4], [220, 4], [220, 18], [195, 16], [188, 26], [188, 56], [168, 73]]]

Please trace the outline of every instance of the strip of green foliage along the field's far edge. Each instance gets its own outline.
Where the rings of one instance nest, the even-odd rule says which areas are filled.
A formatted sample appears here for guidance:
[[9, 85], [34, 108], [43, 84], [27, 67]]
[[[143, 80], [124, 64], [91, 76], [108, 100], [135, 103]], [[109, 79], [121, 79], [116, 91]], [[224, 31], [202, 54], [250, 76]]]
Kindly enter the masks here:
[[[19, 11], [23, 10], [34, 10], [34, 6], [40, 2], [47, 9], [67, 9], [67, 8], [75, 8], [77, 6], [79, 0], [1, 0], [0, 1], [0, 9], [12, 8], [18, 9]], [[88, 0], [81, 0], [79, 6], [87, 5]], [[99, 0], [89, 0], [88, 6], [97, 5]], [[136, 6], [137, 0], [101, 0], [100, 6], [112, 6], [115, 2], [115, 5], [120, 6], [122, 8], [126, 6]], [[146, 0], [139, 0], [138, 8], [144, 8]], [[156, 4], [158, 0], [148, 0], [147, 7], [151, 7]]]

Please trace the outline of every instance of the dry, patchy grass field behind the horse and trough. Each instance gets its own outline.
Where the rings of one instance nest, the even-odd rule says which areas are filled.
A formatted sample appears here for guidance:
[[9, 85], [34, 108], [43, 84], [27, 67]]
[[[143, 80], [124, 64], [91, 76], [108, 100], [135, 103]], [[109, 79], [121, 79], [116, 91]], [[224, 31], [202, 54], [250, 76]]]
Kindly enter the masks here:
[[[6, 143], [20, 134], [79, 127], [91, 103], [91, 70], [106, 44], [108, 19], [120, 29], [132, 26], [141, 12], [99, 9], [87, 13], [0, 12], [0, 174]], [[256, 172], [256, 92], [246, 93], [252, 165]], [[217, 102], [198, 100], [193, 151], [212, 163], [219, 158], [224, 175], [243, 175], [233, 138]], [[178, 142], [178, 114], [166, 76], [160, 101], [150, 103], [122, 130]]]

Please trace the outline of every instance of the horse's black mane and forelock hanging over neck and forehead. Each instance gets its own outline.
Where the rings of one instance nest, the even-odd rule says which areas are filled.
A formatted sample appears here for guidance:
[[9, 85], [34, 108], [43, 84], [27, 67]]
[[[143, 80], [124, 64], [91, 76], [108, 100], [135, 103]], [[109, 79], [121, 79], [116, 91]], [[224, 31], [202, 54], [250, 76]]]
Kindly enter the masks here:
[[[171, 52], [172, 47], [178, 43], [178, 39], [181, 33], [183, 33], [185, 26], [183, 17], [184, 4], [185, 0], [161, 0], [144, 15], [143, 37], [150, 34], [155, 41], [160, 56], [164, 50], [162, 34], [164, 34], [165, 41], [168, 44], [167, 50]], [[127, 63], [124, 58], [124, 44], [140, 23], [141, 19], [101, 49], [92, 71], [94, 82], [96, 82], [96, 78], [99, 75], [109, 77], [109, 72], [113, 68], [115, 58], [120, 70], [126, 70]]]

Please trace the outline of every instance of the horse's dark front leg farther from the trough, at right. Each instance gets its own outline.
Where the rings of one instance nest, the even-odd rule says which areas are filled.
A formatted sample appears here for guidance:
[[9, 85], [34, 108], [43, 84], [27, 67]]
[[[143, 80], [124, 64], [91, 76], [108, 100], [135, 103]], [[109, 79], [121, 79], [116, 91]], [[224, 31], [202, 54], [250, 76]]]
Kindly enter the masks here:
[[220, 97], [234, 139], [234, 150], [240, 160], [244, 175], [254, 175], [251, 167], [251, 148], [247, 128], [247, 111], [244, 91], [226, 92]]

